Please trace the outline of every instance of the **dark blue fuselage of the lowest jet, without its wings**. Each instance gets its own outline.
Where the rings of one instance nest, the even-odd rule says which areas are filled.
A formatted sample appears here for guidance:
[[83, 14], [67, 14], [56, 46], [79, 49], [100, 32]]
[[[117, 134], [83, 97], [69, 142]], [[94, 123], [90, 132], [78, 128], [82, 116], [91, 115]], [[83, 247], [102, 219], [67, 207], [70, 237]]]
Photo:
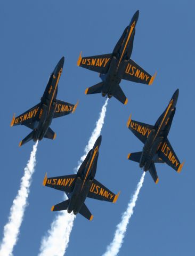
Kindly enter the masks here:
[[93, 149], [89, 151], [84, 162], [79, 167], [75, 187], [70, 195], [70, 202], [67, 208], [68, 213], [73, 211], [74, 214], [77, 214], [85, 202], [95, 177], [100, 144], [101, 136], [97, 139]]

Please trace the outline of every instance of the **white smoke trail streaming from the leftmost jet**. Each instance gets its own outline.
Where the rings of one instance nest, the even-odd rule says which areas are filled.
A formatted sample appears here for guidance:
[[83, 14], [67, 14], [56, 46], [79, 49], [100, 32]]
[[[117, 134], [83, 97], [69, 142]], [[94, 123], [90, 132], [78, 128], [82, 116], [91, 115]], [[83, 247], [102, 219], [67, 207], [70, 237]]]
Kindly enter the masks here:
[[25, 167], [25, 173], [21, 179], [20, 189], [18, 190], [18, 194], [10, 209], [9, 220], [4, 226], [3, 239], [0, 245], [1, 256], [13, 255], [13, 247], [18, 240], [23, 215], [25, 213], [26, 206], [28, 205], [27, 199], [30, 192], [29, 188], [31, 184], [31, 177], [35, 171], [37, 145], [38, 141], [35, 143], [30, 153], [30, 159]]

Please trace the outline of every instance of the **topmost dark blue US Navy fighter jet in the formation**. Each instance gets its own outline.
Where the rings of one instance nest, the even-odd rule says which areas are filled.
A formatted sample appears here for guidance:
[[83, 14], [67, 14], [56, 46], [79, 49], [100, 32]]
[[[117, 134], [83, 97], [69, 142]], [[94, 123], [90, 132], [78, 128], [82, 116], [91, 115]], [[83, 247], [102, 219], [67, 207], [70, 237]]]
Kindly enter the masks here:
[[126, 105], [128, 99], [119, 86], [121, 79], [152, 84], [156, 74], [151, 76], [131, 59], [138, 17], [139, 11], [136, 11], [111, 54], [82, 58], [80, 53], [77, 65], [100, 73], [102, 79], [102, 82], [87, 88], [85, 94], [102, 93], [103, 97], [107, 95], [110, 99], [113, 96]]

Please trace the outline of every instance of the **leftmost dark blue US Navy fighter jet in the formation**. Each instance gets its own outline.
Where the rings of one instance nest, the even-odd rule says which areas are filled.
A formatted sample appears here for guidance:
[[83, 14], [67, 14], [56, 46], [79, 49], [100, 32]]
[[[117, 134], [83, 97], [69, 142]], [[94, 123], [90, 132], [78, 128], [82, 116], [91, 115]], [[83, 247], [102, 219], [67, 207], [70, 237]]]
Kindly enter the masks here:
[[40, 103], [17, 117], [15, 117], [15, 114], [13, 115], [11, 126], [21, 124], [32, 129], [32, 132], [19, 143], [19, 146], [22, 146], [29, 140], [55, 139], [56, 134], [49, 127], [52, 119], [74, 113], [78, 102], [76, 105], [73, 105], [56, 99], [63, 63], [64, 57], [61, 58], [50, 75]]

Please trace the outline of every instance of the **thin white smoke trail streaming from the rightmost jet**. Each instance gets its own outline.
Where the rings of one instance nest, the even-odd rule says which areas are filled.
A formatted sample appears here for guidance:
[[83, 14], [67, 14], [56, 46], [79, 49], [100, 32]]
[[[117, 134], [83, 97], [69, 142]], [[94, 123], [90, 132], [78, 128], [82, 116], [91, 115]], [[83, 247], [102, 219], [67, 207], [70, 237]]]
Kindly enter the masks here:
[[126, 211], [123, 213], [120, 223], [118, 223], [115, 236], [113, 237], [112, 242], [107, 246], [107, 251], [102, 256], [116, 256], [119, 253], [120, 247], [123, 244], [123, 239], [126, 234], [127, 225], [132, 217], [133, 209], [135, 207], [138, 195], [140, 193], [140, 189], [143, 185], [145, 172], [142, 174], [142, 177], [137, 184], [137, 188], [131, 198], [131, 201], [128, 203]]

